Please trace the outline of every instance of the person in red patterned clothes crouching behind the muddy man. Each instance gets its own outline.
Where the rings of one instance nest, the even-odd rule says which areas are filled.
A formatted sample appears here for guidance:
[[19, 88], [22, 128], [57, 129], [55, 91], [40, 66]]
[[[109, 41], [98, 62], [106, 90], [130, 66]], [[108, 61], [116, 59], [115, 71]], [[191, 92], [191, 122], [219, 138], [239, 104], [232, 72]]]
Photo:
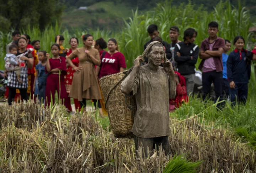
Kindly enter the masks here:
[[186, 79], [179, 73], [175, 73], [175, 81], [177, 85], [175, 99], [170, 99], [169, 111], [172, 112], [176, 108], [179, 108], [183, 102], [188, 102]]

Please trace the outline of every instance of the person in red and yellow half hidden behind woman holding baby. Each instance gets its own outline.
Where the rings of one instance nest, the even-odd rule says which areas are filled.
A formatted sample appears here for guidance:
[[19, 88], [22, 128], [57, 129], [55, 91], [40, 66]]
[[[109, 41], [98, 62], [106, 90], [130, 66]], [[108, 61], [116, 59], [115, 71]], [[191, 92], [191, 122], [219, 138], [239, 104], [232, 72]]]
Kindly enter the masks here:
[[34, 54], [34, 47], [31, 45], [30, 41], [30, 36], [28, 34], [23, 34], [21, 37], [24, 37], [27, 39], [27, 50], [30, 50], [33, 58], [34, 58], [34, 65], [32, 69], [28, 69], [28, 88], [27, 88], [27, 93], [30, 95], [30, 99], [36, 100], [36, 98], [33, 98], [34, 96], [34, 91], [33, 91], [33, 86], [34, 86], [34, 78], [36, 74], [36, 65], [38, 64], [38, 58]]

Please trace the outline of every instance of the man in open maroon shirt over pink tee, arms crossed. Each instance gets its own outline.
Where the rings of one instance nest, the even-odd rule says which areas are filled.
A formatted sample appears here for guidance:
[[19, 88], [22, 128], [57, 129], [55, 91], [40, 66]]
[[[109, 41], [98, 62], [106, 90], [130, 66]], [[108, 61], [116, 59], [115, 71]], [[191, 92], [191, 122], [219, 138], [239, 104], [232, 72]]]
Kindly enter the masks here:
[[[215, 102], [222, 99], [222, 53], [224, 52], [225, 40], [218, 37], [218, 23], [210, 22], [208, 24], [209, 38], [201, 43], [200, 58], [202, 62], [199, 69], [202, 71], [203, 99], [210, 94], [211, 84], [214, 84]], [[220, 104], [217, 105], [218, 107]]]

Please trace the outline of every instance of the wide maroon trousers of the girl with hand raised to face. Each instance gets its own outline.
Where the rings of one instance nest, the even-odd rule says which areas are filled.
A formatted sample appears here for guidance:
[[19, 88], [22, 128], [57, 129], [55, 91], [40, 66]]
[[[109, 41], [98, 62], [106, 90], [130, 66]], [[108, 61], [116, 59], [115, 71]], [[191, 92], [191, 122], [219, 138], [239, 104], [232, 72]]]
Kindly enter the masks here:
[[55, 103], [56, 91], [58, 93], [58, 98], [60, 98], [61, 104], [65, 105], [66, 108], [68, 108], [68, 104], [65, 101], [68, 97], [68, 94], [66, 93], [64, 76], [59, 76], [59, 74], [49, 74], [46, 80], [46, 106], [50, 106], [51, 100], [53, 101], [53, 104]]

